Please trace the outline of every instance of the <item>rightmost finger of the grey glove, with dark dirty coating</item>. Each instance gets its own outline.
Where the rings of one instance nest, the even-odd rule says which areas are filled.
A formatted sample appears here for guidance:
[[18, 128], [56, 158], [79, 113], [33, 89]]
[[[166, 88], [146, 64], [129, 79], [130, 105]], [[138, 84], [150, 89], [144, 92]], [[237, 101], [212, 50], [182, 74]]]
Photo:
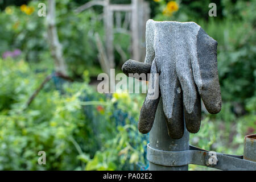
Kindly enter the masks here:
[[221, 110], [221, 91], [218, 82], [217, 42], [200, 28], [197, 35], [197, 61], [192, 63], [193, 75], [206, 109], [211, 114]]

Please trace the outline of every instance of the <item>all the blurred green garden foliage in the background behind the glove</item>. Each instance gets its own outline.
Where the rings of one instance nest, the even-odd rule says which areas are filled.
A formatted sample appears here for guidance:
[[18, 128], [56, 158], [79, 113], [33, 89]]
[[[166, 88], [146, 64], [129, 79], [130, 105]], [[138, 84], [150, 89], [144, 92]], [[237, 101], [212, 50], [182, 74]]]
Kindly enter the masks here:
[[[104, 28], [101, 7], [74, 13], [85, 2], [56, 4], [64, 58], [70, 75], [79, 77], [79, 82], [52, 78], [25, 110], [28, 98], [53, 71], [45, 19], [37, 15], [39, 1], [28, 3], [34, 8], [31, 15], [19, 6], [2, 9], [0, 55], [16, 48], [22, 55], [0, 59], [0, 169], [130, 170], [146, 166], [147, 138], [136, 128], [144, 96], [115, 93], [109, 97], [89, 85], [90, 76], [101, 72], [94, 33], [104, 40]], [[191, 134], [191, 143], [242, 155], [243, 137], [255, 133], [256, 126], [256, 2], [216, 1], [217, 17], [208, 16], [210, 1], [176, 1], [179, 10], [172, 16], [164, 16], [159, 3], [148, 2], [151, 18], [195, 21], [218, 41], [222, 110], [216, 115], [203, 114], [201, 129]], [[130, 37], [115, 34], [114, 42], [129, 57]], [[121, 67], [117, 52], [115, 57]], [[46, 151], [46, 166], [38, 164], [40, 150]]]

